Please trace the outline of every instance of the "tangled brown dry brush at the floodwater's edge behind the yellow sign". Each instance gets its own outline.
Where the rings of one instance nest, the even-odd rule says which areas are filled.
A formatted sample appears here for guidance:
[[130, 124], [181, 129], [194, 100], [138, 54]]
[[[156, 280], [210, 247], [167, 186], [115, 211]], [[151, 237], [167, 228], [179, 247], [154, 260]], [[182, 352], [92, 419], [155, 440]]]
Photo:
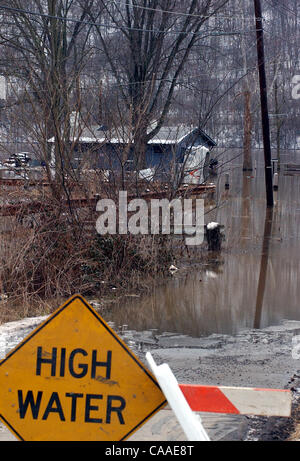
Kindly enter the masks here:
[[112, 286], [138, 289], [142, 277], [168, 269], [167, 238], [103, 237], [87, 218], [53, 208], [2, 222], [0, 296], [8, 298], [0, 302], [0, 321], [44, 315], [75, 293], [102, 297], [111, 295]]

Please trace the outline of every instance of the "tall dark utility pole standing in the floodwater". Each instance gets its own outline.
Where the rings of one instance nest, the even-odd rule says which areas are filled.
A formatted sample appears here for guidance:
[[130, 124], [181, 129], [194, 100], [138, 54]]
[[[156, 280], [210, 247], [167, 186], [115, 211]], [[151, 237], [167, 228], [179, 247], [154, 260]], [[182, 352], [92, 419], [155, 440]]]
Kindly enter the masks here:
[[267, 78], [265, 69], [265, 50], [264, 50], [264, 32], [261, 1], [254, 0], [255, 18], [256, 18], [256, 42], [257, 42], [257, 61], [259, 72], [259, 85], [260, 85], [260, 101], [261, 101], [261, 117], [262, 117], [262, 131], [264, 142], [265, 154], [265, 181], [266, 181], [266, 197], [267, 207], [274, 206], [273, 198], [273, 179], [272, 179], [272, 153], [270, 141], [270, 121], [268, 110], [268, 92], [267, 92]]

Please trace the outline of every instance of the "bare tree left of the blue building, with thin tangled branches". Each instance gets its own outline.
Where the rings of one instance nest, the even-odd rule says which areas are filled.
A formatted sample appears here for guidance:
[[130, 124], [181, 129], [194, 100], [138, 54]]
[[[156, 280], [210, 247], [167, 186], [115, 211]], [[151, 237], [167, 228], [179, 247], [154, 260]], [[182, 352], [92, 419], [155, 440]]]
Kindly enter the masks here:
[[[6, 73], [15, 77], [19, 94], [23, 90], [30, 104], [34, 100], [40, 108], [45, 130], [43, 161], [54, 190], [70, 173], [69, 117], [79, 101], [76, 90], [91, 28], [85, 19], [92, 1], [79, 6], [74, 0], [30, 0], [26, 9], [19, 0], [2, 3], [0, 38], [9, 57]], [[55, 178], [47, 153], [51, 137]], [[59, 197], [59, 190], [56, 193]]]

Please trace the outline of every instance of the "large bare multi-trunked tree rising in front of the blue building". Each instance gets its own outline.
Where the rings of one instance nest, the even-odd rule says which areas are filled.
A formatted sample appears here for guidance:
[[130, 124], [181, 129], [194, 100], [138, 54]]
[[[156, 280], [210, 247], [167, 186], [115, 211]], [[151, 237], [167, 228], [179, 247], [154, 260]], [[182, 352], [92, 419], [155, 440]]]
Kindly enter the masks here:
[[[169, 114], [178, 78], [194, 46], [213, 33], [209, 20], [228, 0], [147, 0], [110, 3], [98, 0], [113, 27], [96, 27], [99, 47], [131, 114], [137, 169], [145, 166], [146, 145]], [[90, 12], [97, 20], [97, 8]], [[203, 27], [207, 25], [207, 29]], [[155, 122], [153, 124], [153, 122]]]

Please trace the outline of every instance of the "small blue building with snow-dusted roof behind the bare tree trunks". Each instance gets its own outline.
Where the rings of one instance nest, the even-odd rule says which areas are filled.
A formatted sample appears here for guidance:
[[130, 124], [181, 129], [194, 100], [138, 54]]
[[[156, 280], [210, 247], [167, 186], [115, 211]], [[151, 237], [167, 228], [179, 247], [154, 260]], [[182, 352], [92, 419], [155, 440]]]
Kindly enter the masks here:
[[[74, 168], [118, 171], [125, 167], [126, 171], [134, 170], [134, 140], [130, 130], [109, 129], [102, 125], [81, 130], [77, 127], [71, 132]], [[49, 143], [54, 145], [54, 139]], [[181, 182], [201, 184], [208, 175], [210, 152], [215, 146], [215, 141], [200, 128], [162, 127], [147, 144], [145, 174], [158, 179], [175, 167], [181, 175]]]

